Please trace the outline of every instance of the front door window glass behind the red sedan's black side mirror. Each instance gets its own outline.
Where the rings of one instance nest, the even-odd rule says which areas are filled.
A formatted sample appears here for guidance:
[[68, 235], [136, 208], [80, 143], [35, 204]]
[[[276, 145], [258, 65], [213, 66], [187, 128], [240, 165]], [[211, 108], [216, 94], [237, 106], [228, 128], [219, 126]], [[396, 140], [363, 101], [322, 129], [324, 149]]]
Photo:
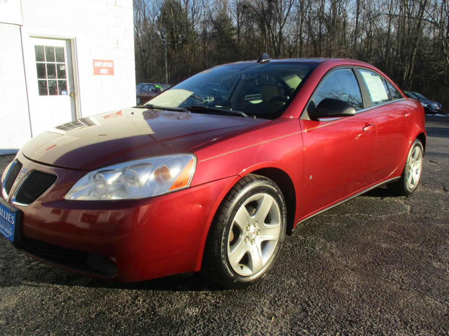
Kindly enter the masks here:
[[317, 106], [325, 98], [343, 100], [356, 110], [363, 108], [360, 88], [351, 69], [338, 69], [327, 76], [315, 93], [313, 101]]

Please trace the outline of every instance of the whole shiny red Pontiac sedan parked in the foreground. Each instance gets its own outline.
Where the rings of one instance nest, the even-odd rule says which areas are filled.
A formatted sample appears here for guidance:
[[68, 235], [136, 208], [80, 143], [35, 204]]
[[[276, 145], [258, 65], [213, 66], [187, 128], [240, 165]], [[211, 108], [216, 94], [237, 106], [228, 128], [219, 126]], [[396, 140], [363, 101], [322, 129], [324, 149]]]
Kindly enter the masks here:
[[413, 193], [425, 145], [423, 107], [379, 69], [264, 54], [31, 139], [3, 174], [0, 231], [91, 276], [241, 288], [313, 215], [383, 184]]

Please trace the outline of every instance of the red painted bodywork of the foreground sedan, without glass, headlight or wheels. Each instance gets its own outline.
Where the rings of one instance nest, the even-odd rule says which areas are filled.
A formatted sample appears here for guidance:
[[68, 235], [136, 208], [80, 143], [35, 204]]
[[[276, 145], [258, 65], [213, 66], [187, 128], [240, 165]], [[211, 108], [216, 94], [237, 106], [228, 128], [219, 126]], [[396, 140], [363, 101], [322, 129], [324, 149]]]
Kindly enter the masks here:
[[[274, 120], [134, 108], [123, 110], [121, 117], [104, 114], [86, 121], [95, 127], [38, 135], [18, 159], [24, 167], [56, 173], [58, 179], [31, 205], [16, 206], [23, 211], [22, 234], [104, 255], [117, 266], [119, 281], [147, 280], [200, 269], [213, 216], [227, 192], [248, 173], [270, 168], [290, 179], [292, 228], [372, 185], [400, 177], [414, 139], [419, 135], [425, 140], [423, 107], [414, 99], [400, 99], [354, 116], [301, 118], [321, 78], [336, 66], [363, 66], [387, 78], [363, 62], [313, 61], [321, 63]], [[124, 121], [139, 125], [141, 133], [127, 131]], [[364, 132], [366, 125], [376, 127]], [[123, 134], [111, 134], [114, 127]], [[185, 190], [129, 201], [64, 200], [89, 170], [185, 152], [197, 157]]]

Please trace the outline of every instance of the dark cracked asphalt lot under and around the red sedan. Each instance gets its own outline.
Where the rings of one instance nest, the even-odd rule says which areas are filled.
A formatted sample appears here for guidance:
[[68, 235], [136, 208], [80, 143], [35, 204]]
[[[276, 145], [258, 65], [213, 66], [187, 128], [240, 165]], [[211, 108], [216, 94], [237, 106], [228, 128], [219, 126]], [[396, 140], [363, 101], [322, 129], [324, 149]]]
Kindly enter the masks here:
[[[306, 221], [249, 289], [199, 274], [108, 283], [26, 257], [1, 237], [0, 334], [448, 334], [449, 117], [426, 121], [413, 195], [381, 187]], [[0, 157], [0, 169], [12, 159]]]

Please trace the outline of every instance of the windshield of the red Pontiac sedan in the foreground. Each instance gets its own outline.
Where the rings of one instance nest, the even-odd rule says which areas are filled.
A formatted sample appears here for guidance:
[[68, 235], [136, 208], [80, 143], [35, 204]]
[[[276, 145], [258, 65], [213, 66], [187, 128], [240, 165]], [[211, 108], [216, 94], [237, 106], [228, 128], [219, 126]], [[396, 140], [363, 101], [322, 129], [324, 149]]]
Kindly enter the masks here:
[[208, 106], [274, 119], [316, 67], [313, 63], [239, 63], [198, 73], [151, 99], [154, 106]]

